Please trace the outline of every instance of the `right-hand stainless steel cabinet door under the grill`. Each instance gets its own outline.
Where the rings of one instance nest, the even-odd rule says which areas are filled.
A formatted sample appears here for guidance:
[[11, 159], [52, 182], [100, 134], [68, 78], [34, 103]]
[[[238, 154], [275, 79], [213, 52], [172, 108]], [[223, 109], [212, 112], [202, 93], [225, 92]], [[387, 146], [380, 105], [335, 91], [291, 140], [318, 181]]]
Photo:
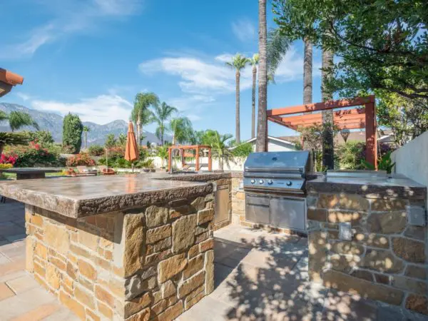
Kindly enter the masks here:
[[306, 205], [304, 198], [270, 198], [271, 224], [292, 230], [306, 229]]

